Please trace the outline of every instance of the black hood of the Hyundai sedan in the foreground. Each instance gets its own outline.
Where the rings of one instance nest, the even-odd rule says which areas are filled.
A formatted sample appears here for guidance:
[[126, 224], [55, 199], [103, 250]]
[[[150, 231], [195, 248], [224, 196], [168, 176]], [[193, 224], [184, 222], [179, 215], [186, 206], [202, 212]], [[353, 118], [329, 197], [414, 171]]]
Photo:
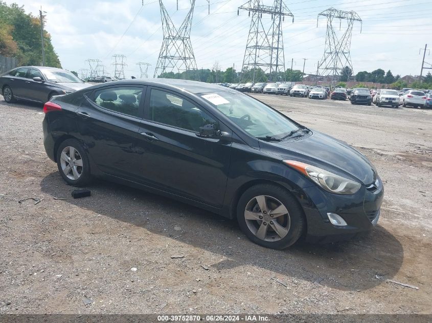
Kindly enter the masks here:
[[346, 142], [318, 131], [280, 142], [260, 140], [260, 147], [281, 160], [295, 160], [320, 167], [364, 185], [376, 180], [375, 168], [365, 156]]

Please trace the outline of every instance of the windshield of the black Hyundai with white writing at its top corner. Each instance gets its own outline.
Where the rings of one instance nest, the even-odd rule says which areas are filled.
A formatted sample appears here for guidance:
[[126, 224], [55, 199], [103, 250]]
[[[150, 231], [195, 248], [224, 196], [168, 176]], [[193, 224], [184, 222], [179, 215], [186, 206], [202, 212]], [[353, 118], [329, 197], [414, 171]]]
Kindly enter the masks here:
[[242, 93], [212, 92], [199, 94], [238, 127], [254, 137], [281, 139], [300, 128], [287, 117]]

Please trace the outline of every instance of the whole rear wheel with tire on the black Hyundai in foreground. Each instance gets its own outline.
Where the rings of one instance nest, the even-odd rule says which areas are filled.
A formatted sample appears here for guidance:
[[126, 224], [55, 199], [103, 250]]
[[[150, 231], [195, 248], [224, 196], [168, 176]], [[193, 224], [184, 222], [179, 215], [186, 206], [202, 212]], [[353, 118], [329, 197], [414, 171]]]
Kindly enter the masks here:
[[64, 140], [58, 146], [56, 156], [58, 171], [67, 184], [85, 186], [90, 183], [90, 163], [84, 147], [78, 140]]

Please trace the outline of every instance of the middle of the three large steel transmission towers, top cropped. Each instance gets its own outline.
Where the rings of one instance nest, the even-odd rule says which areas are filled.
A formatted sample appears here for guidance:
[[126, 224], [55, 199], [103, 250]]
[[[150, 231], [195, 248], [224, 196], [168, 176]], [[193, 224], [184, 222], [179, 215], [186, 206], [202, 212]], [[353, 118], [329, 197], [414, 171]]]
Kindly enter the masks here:
[[[272, 6], [264, 6], [260, 0], [250, 0], [238, 8], [252, 12], [251, 28], [246, 43], [241, 81], [265, 81], [268, 76], [271, 81], [286, 81], [284, 45], [282, 37], [282, 21], [285, 16], [294, 16], [282, 0], [275, 0]], [[266, 29], [262, 14], [271, 15], [271, 24]]]

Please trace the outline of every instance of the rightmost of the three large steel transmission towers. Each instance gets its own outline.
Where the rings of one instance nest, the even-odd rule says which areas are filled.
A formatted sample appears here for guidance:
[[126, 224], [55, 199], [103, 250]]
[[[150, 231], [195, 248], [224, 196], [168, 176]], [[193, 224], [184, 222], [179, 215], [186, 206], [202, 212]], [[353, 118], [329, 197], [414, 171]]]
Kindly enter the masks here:
[[[327, 31], [324, 55], [318, 69], [321, 76], [329, 77], [332, 83], [338, 82], [340, 77], [348, 72], [345, 70], [345, 66], [351, 69], [351, 73], [353, 72], [350, 55], [352, 28], [355, 21], [360, 21], [360, 26], [362, 21], [354, 11], [329, 8], [318, 15], [316, 27], [318, 27], [320, 16], [327, 17]], [[339, 19], [339, 31], [341, 31], [339, 34], [343, 32], [339, 37], [333, 28], [333, 19]], [[347, 20], [348, 22], [344, 30], [342, 30], [342, 20]], [[350, 77], [350, 75], [347, 75], [347, 77]]]

